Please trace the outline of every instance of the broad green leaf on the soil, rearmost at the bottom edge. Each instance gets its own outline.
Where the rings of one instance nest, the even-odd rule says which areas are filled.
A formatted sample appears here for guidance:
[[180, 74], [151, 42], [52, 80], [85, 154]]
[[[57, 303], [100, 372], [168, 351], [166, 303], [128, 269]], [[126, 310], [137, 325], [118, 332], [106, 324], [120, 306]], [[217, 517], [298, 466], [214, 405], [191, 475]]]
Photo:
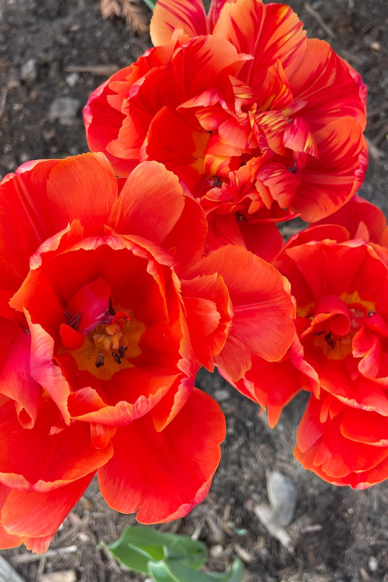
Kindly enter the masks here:
[[199, 568], [206, 559], [206, 546], [202, 542], [151, 527], [127, 527], [109, 550], [120, 562], [145, 574], [149, 560], [158, 562], [170, 557], [183, 560], [191, 568]]

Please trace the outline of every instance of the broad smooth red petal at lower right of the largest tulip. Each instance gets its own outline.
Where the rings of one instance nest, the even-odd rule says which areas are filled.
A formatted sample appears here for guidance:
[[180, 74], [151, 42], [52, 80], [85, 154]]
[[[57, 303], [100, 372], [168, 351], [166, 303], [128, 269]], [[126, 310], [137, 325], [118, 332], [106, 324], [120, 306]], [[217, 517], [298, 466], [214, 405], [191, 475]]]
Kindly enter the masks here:
[[207, 495], [224, 437], [218, 404], [194, 389], [162, 432], [148, 416], [118, 429], [112, 439], [115, 454], [98, 470], [101, 493], [120, 512], [140, 508], [141, 523], [183, 517]]

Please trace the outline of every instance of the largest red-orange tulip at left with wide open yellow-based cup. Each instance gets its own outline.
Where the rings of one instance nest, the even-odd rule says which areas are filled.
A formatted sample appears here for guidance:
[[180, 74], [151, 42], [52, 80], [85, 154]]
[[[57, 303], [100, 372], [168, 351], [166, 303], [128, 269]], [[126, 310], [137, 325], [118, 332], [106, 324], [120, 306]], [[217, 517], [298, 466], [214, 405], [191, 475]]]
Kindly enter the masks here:
[[[284, 355], [289, 285], [245, 249], [202, 257], [200, 205], [157, 162], [27, 162], [0, 183], [0, 545], [42, 552], [97, 472], [142, 523], [207, 495], [225, 420], [194, 388]], [[232, 328], [233, 325], [233, 328]]]

